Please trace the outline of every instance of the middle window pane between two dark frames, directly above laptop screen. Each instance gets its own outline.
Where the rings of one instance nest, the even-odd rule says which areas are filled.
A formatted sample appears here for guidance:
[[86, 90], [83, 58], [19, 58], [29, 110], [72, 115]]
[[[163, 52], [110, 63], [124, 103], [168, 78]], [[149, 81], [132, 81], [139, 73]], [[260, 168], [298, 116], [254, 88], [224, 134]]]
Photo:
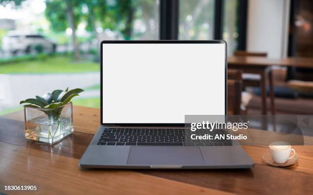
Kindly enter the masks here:
[[180, 0], [178, 39], [213, 39], [214, 0]]

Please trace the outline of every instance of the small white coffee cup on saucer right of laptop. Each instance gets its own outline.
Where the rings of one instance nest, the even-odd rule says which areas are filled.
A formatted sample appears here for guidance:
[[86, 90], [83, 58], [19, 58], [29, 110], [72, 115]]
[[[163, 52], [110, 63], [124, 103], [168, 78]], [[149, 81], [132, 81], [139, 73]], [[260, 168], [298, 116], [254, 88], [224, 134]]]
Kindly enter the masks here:
[[[292, 149], [291, 145], [284, 141], [275, 141], [269, 145], [270, 154], [272, 159], [276, 163], [284, 163], [287, 160], [294, 158], [296, 151]], [[290, 156], [291, 151], [294, 152], [293, 156]]]

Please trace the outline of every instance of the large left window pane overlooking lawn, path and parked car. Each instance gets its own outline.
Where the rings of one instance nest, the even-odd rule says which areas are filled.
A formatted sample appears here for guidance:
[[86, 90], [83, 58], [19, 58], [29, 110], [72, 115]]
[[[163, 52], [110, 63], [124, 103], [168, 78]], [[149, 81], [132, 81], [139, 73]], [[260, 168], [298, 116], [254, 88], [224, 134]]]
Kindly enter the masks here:
[[[10, 12], [18, 12], [17, 15], [21, 16], [13, 22], [17, 24], [16, 29], [23, 27], [25, 32], [33, 32], [23, 37], [47, 41], [23, 39], [15, 45], [12, 41], [2, 41], [3, 37], [10, 35], [11, 29], [0, 29], [0, 115], [23, 109], [19, 105], [21, 100], [66, 87], [85, 90], [73, 99], [74, 106], [99, 108], [99, 42], [159, 39], [159, 0], [72, 1], [75, 34], [64, 1], [37, 3], [44, 8], [40, 13], [32, 12], [30, 4], [18, 10], [12, 8]], [[28, 13], [32, 17], [27, 18]], [[1, 28], [5, 22], [0, 20]], [[21, 36], [11, 34], [10, 37]], [[75, 39], [78, 44], [73, 43]], [[44, 50], [39, 51], [40, 47], [36, 47], [38, 51], [29, 52], [33, 43], [41, 45]]]

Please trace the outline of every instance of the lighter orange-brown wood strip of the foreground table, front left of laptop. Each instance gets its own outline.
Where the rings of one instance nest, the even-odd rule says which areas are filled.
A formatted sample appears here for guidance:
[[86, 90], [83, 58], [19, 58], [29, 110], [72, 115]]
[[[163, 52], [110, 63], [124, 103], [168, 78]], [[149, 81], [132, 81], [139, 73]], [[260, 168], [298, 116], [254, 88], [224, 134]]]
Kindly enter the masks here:
[[37, 185], [41, 194], [228, 194], [129, 170], [81, 170], [76, 158], [3, 142], [0, 158], [2, 187]]

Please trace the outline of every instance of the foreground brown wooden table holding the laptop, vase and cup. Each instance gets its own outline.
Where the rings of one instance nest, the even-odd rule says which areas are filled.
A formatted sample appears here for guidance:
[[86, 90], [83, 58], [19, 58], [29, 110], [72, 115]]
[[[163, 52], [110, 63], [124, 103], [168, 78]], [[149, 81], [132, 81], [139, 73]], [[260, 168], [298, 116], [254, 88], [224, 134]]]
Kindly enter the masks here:
[[[78, 161], [96, 133], [99, 109], [74, 107], [74, 133], [52, 146], [27, 141], [23, 112], [0, 118], [0, 192], [37, 185], [40, 194], [313, 194], [313, 146], [295, 146], [299, 162], [262, 163], [268, 149], [243, 145], [252, 169], [82, 170]], [[214, 158], [214, 157], [212, 157]]]

